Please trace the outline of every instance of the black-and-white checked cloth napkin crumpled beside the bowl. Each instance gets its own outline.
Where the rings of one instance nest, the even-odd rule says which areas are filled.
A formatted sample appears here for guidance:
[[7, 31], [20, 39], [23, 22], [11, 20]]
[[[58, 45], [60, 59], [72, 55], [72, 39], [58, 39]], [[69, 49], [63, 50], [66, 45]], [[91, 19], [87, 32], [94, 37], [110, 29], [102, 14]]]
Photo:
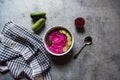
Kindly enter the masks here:
[[7, 64], [5, 69], [14, 78], [27, 75], [32, 80], [51, 80], [50, 60], [42, 38], [11, 21], [5, 24], [1, 36], [0, 63]]

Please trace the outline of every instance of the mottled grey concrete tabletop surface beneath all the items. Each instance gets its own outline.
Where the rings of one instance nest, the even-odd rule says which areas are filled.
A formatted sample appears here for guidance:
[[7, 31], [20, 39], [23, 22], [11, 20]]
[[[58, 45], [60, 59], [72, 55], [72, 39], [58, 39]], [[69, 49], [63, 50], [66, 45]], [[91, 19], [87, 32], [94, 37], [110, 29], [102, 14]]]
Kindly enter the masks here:
[[[69, 55], [51, 56], [53, 80], [120, 80], [120, 0], [0, 0], [0, 31], [8, 21], [32, 31], [29, 14], [37, 11], [47, 12], [40, 37], [61, 25], [75, 38]], [[82, 33], [74, 26], [77, 17], [86, 21]], [[87, 35], [93, 37], [93, 44], [73, 60]], [[9, 73], [0, 73], [0, 80], [14, 79]]]

